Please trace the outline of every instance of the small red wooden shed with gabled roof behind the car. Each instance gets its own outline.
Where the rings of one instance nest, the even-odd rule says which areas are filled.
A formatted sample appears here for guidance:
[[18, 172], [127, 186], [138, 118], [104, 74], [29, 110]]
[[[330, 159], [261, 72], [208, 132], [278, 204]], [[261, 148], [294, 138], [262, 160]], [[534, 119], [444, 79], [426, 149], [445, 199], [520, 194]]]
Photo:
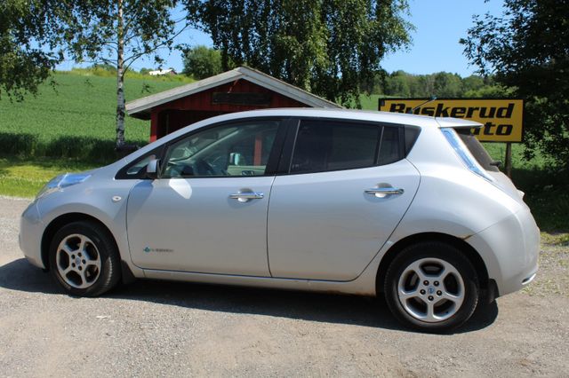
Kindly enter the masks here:
[[126, 104], [135, 118], [150, 120], [150, 141], [214, 115], [269, 107], [341, 106], [248, 67]]

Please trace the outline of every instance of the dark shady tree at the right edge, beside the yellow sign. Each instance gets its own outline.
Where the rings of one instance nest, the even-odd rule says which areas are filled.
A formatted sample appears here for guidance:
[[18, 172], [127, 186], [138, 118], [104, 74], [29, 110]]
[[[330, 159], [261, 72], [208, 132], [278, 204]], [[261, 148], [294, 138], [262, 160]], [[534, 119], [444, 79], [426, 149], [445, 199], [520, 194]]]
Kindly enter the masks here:
[[[505, 0], [501, 16], [476, 16], [464, 53], [525, 98], [525, 147], [569, 166], [569, 1]], [[565, 170], [566, 172], [566, 170]]]

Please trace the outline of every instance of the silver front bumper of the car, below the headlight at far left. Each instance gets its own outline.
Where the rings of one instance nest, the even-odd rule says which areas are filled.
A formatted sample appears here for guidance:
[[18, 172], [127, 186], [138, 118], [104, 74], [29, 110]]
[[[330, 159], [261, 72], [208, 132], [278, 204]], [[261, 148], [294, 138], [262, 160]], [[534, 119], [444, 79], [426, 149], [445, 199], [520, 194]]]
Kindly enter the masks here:
[[42, 260], [42, 235], [44, 224], [41, 221], [37, 200], [29, 204], [20, 217], [20, 249], [28, 261], [38, 268], [45, 269]]

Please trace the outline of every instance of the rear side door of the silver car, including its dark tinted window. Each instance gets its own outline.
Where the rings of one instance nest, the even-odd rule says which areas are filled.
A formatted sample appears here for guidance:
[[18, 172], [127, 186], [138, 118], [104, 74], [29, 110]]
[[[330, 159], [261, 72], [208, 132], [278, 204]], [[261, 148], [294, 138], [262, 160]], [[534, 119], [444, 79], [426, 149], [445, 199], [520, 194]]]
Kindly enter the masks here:
[[419, 186], [404, 128], [302, 120], [268, 209], [273, 277], [354, 280], [388, 240]]

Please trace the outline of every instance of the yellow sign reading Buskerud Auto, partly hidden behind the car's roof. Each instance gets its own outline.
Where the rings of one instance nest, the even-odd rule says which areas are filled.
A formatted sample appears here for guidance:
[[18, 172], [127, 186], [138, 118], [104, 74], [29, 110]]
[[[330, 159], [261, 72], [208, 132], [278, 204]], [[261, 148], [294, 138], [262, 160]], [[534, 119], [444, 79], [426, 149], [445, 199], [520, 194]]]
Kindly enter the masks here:
[[428, 101], [427, 98], [385, 98], [380, 99], [379, 110], [433, 117], [464, 118], [484, 125], [472, 130], [482, 142], [522, 141], [523, 99], [437, 98], [428, 103], [425, 103], [426, 101]]

